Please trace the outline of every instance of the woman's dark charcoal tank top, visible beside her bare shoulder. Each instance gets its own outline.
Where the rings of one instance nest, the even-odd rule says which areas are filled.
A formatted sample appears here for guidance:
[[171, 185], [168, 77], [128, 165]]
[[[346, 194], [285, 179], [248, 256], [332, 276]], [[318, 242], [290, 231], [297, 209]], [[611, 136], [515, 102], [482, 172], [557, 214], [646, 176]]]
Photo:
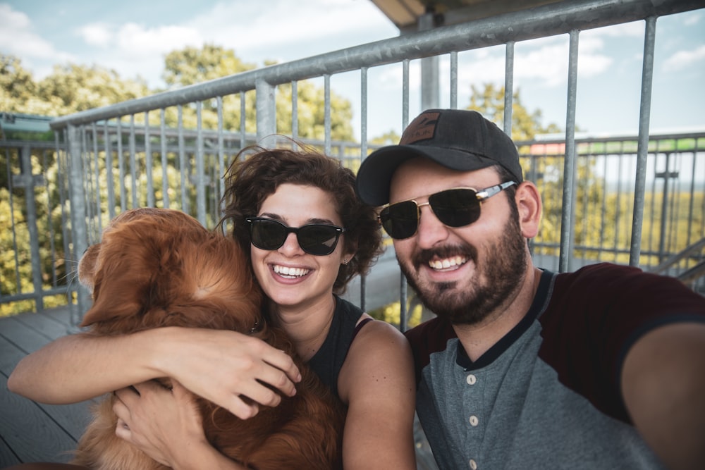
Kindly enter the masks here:
[[[328, 385], [333, 393], [338, 396], [338, 375], [341, 373], [345, 357], [348, 356], [350, 345], [353, 344], [357, 331], [367, 323], [355, 324], [362, 315], [362, 310], [345, 299], [336, 297], [336, 310], [333, 312], [331, 329], [321, 348], [309, 359], [308, 366], [319, 376], [321, 381]], [[371, 320], [371, 319], [367, 319]]]

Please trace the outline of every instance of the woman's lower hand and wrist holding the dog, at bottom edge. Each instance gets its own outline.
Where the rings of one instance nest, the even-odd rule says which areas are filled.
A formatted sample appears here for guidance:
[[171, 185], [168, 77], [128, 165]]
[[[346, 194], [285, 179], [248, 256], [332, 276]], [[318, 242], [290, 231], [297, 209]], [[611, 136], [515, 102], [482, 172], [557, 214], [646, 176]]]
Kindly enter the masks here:
[[203, 433], [192, 396], [179, 383], [166, 390], [147, 382], [118, 390], [116, 435], [174, 470], [245, 469], [216, 450]]

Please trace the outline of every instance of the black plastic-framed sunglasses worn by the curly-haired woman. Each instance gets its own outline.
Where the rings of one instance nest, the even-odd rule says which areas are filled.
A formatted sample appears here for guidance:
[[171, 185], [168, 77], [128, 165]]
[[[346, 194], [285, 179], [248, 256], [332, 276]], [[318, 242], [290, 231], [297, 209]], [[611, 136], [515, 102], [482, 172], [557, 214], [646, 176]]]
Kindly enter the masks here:
[[325, 223], [289, 227], [266, 217], [248, 217], [245, 221], [250, 224], [250, 241], [259, 249], [278, 249], [290, 233], [295, 233], [301, 249], [316, 256], [331, 254], [338, 245], [338, 237], [345, 232], [343, 227]]

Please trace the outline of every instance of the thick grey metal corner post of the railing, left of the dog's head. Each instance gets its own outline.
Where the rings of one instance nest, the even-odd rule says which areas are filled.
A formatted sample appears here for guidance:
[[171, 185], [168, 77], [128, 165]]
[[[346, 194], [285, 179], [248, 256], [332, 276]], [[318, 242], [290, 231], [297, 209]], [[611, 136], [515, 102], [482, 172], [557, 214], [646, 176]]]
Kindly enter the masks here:
[[[88, 235], [86, 227], [86, 205], [85, 194], [83, 192], [83, 157], [80, 144], [79, 129], [75, 125], [68, 125], [68, 192], [71, 199], [71, 240], [73, 240], [73, 253], [66, 253], [71, 256], [74, 266], [78, 267], [80, 254], [88, 247]], [[75, 276], [74, 273], [73, 276]], [[90, 297], [85, 287], [77, 286], [78, 292], [78, 315], [82, 317], [90, 305]], [[72, 311], [73, 313], [73, 311]], [[71, 316], [71, 325], [77, 327], [80, 318]]]

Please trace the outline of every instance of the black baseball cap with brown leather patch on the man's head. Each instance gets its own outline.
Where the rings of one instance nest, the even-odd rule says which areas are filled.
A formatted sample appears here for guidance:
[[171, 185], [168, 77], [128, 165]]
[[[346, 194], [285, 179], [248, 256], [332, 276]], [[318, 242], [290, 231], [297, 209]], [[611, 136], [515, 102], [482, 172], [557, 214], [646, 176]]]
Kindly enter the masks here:
[[357, 171], [362, 202], [387, 204], [392, 175], [417, 156], [458, 171], [501, 165], [517, 183], [524, 179], [516, 145], [495, 123], [477, 111], [429, 109], [412, 120], [398, 145], [377, 149], [362, 161]]

